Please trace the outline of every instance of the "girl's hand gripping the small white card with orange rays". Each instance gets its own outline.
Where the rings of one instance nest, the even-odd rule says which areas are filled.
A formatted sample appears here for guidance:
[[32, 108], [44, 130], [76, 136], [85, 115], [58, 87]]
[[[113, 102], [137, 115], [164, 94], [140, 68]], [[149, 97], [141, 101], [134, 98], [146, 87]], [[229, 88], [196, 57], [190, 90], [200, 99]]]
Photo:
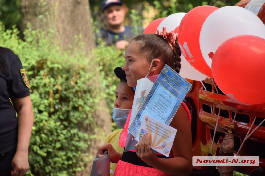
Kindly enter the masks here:
[[146, 164], [152, 166], [152, 163], [157, 160], [157, 155], [150, 149], [150, 137], [149, 133], [145, 133], [141, 141], [134, 147], [137, 156], [146, 162]]

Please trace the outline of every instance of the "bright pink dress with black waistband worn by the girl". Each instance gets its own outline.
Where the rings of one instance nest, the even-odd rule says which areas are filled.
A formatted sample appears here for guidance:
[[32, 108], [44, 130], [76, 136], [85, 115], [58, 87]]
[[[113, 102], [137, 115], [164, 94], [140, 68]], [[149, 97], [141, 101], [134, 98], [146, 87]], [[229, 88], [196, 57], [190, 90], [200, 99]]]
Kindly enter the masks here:
[[[185, 108], [186, 112], [189, 115], [189, 120], [191, 123], [191, 115], [188, 107], [184, 102], [181, 103], [181, 105]], [[126, 145], [126, 139], [128, 134], [128, 128], [129, 128], [129, 122], [131, 118], [132, 110], [130, 111], [127, 121], [125, 123], [124, 129], [120, 134], [120, 141], [119, 144], [121, 147], [125, 147]], [[132, 152], [135, 152], [135, 150], [132, 150]], [[157, 153], [158, 155], [162, 155], [160, 153]], [[173, 152], [170, 151], [169, 157], [173, 158]], [[119, 160], [119, 162], [116, 165], [116, 169], [114, 171], [114, 176], [170, 176], [169, 174], [165, 174], [161, 172], [160, 170], [157, 170], [152, 167], [145, 167], [145, 166], [138, 166], [135, 164], [131, 164], [128, 162], [124, 162], [122, 160]]]

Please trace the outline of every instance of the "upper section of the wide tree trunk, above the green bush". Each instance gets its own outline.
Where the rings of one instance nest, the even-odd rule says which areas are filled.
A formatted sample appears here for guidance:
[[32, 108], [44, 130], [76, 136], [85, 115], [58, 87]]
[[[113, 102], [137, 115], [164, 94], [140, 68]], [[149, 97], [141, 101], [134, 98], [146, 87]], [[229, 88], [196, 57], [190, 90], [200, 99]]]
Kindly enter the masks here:
[[[55, 30], [55, 39], [63, 49], [75, 43], [75, 35], [82, 35], [85, 52], [95, 47], [92, 25], [90, 22], [90, 7], [87, 0], [21, 0], [21, 30], [24, 31], [28, 22], [33, 30], [49, 28]], [[48, 13], [47, 13], [48, 12]]]

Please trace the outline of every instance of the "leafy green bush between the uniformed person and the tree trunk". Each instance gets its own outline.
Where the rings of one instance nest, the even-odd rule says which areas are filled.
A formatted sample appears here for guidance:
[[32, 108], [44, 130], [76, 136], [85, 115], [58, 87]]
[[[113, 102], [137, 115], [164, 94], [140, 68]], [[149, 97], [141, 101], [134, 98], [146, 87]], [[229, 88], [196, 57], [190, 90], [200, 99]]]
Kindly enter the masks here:
[[[5, 31], [0, 23], [0, 46], [20, 56], [31, 85], [34, 126], [27, 175], [75, 175], [91, 158], [85, 152], [95, 136], [88, 130], [92, 112], [100, 108], [94, 104], [104, 95], [100, 87], [93, 86], [98, 79], [96, 62], [84, 57], [82, 48], [62, 52], [53, 42], [52, 33], [47, 36], [42, 31], [27, 30], [22, 41], [18, 32], [16, 28]], [[88, 130], [80, 130], [81, 126]]]

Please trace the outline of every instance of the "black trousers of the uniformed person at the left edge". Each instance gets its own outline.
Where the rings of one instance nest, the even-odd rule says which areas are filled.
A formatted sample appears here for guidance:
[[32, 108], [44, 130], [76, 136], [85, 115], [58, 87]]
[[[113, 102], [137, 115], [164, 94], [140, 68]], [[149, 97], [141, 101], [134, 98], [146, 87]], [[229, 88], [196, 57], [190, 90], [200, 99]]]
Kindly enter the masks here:
[[16, 148], [5, 153], [0, 154], [0, 175], [1, 176], [11, 176], [11, 170], [13, 169], [11, 166], [12, 159], [16, 153]]

